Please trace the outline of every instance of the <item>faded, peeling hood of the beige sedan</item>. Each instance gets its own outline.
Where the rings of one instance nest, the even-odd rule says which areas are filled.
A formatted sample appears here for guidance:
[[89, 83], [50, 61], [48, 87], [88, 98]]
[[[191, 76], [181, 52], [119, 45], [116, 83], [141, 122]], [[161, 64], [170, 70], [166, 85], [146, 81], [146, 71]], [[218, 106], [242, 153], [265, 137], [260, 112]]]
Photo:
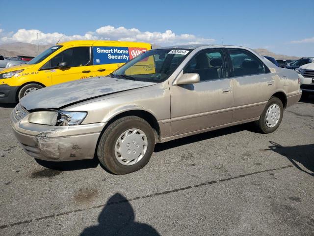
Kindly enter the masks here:
[[26, 110], [59, 109], [88, 99], [116, 92], [155, 85], [110, 77], [97, 77], [71, 81], [34, 91], [21, 99]]

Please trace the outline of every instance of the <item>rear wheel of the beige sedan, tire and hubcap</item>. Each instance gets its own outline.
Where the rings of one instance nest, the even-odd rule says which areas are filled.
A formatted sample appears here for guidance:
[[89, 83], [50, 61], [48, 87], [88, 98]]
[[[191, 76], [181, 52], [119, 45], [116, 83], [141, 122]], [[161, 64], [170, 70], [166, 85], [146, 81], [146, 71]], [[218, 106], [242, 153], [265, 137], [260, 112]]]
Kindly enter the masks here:
[[[268, 109], [271, 109], [274, 112], [274, 117], [272, 118], [272, 114], [267, 115]], [[278, 111], [280, 111], [279, 118], [278, 116]], [[284, 106], [282, 101], [278, 97], [271, 97], [266, 106], [264, 111], [262, 112], [262, 115], [259, 120], [255, 121], [255, 125], [257, 126], [258, 130], [261, 133], [268, 134], [274, 132], [280, 125], [281, 120], [284, 115]], [[271, 122], [266, 121], [266, 116], [267, 120], [271, 120]]]

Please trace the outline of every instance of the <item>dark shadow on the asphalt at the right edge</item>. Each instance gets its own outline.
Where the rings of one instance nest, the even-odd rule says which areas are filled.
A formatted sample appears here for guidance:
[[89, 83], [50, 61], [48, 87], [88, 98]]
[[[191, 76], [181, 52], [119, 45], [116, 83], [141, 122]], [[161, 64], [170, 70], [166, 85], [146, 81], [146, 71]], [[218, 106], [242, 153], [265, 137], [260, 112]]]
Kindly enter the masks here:
[[[269, 141], [269, 143], [272, 144], [272, 146], [269, 146], [270, 150], [287, 157], [300, 171], [314, 176], [314, 144], [284, 147], [272, 141]], [[297, 162], [302, 164], [307, 170], [300, 167]]]

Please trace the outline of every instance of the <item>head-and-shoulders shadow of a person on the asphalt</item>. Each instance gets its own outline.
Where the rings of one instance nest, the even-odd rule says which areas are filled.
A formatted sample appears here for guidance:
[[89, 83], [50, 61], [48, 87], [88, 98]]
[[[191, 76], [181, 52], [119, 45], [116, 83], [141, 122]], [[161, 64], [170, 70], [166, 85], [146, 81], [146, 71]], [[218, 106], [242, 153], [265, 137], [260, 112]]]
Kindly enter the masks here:
[[98, 225], [85, 228], [80, 236], [159, 236], [150, 225], [136, 222], [133, 207], [121, 194], [109, 198], [98, 216]]

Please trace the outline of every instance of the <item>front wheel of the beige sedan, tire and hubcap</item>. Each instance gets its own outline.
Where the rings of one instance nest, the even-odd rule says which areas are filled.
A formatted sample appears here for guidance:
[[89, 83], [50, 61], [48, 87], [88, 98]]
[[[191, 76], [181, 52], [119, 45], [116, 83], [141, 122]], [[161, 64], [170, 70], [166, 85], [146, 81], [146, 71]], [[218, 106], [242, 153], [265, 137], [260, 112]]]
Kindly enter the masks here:
[[[142, 137], [143, 134], [145, 136]], [[154, 147], [155, 134], [150, 124], [142, 118], [129, 116], [117, 119], [105, 129], [97, 147], [97, 156], [109, 172], [124, 175], [143, 168], [149, 162]]]

